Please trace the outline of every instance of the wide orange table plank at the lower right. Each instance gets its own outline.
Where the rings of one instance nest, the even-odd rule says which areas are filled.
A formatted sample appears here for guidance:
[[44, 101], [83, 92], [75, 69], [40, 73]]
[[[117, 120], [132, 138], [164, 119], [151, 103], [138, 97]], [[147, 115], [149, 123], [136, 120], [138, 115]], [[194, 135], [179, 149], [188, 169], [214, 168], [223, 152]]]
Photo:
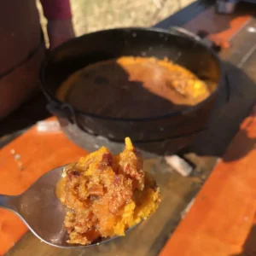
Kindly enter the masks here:
[[256, 214], [255, 143], [256, 106], [160, 256], [224, 256], [244, 248], [255, 250], [248, 242]]

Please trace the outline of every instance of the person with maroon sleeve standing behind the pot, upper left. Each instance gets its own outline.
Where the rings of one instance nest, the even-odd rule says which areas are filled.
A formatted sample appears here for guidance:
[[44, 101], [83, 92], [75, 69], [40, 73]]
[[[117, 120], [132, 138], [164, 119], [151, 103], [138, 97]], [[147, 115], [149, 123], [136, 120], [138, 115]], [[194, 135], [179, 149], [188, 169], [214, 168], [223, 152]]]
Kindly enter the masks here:
[[[40, 0], [48, 20], [49, 49], [74, 37], [69, 0]], [[0, 1], [0, 119], [39, 88], [46, 53], [35, 0]]]

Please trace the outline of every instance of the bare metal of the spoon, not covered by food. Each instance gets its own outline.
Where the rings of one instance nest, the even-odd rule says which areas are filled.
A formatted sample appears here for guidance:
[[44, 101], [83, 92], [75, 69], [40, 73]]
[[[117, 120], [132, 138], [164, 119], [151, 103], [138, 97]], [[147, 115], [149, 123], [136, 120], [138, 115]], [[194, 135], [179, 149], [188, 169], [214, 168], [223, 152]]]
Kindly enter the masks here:
[[68, 235], [63, 225], [66, 207], [55, 196], [55, 186], [63, 168], [65, 166], [45, 173], [20, 195], [0, 195], [0, 208], [15, 212], [35, 236], [55, 247], [91, 247], [118, 237], [101, 238], [87, 246], [67, 243]]

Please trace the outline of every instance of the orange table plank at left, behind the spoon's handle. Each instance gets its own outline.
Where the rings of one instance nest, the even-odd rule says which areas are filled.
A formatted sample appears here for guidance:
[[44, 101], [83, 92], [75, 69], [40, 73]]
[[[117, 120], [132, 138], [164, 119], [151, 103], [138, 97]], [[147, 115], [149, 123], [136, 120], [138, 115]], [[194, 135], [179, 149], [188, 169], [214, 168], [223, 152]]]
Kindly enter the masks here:
[[[14, 154], [20, 155], [15, 160]], [[32, 127], [0, 150], [0, 194], [18, 195], [51, 169], [87, 154], [61, 132], [40, 133]], [[17, 157], [16, 157], [17, 158]], [[0, 255], [27, 231], [15, 213], [0, 209]]]

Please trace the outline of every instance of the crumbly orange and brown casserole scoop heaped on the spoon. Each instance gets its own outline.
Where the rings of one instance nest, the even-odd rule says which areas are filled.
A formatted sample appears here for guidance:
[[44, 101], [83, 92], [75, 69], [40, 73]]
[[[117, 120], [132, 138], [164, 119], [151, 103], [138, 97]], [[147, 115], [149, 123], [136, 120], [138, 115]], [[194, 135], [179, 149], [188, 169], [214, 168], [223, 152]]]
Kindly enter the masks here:
[[125, 236], [125, 230], [148, 218], [160, 203], [160, 189], [143, 172], [143, 159], [130, 138], [119, 155], [102, 147], [67, 166], [56, 194], [68, 209], [67, 242], [82, 245]]

